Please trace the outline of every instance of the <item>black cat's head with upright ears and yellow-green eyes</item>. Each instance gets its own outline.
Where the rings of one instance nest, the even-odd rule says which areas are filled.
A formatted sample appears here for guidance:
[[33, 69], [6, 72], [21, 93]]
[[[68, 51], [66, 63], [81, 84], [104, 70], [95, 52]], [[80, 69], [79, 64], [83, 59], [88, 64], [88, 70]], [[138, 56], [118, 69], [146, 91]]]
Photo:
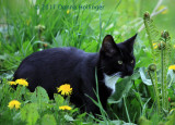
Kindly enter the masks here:
[[136, 64], [133, 43], [137, 34], [124, 42], [115, 43], [110, 35], [106, 35], [100, 51], [101, 68], [107, 75], [130, 76]]

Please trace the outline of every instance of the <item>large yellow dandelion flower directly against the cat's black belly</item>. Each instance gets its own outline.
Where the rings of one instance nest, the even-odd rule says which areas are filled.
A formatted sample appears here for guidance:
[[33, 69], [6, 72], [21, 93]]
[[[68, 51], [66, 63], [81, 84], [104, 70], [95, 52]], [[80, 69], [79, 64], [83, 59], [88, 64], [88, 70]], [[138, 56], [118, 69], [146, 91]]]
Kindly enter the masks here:
[[65, 85], [61, 85], [59, 88], [57, 87], [57, 90], [58, 92], [61, 92], [61, 95], [71, 95], [72, 92], [72, 88], [70, 87], [69, 84], [65, 84]]

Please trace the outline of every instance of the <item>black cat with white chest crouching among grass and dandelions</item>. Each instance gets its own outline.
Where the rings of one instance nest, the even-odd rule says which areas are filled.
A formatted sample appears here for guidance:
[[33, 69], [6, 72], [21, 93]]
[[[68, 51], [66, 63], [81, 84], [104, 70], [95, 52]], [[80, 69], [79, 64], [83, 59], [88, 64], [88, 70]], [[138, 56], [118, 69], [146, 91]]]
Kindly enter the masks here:
[[50, 99], [57, 92], [56, 87], [70, 84], [73, 90], [70, 101], [82, 111], [100, 113], [90, 99], [91, 97], [96, 100], [95, 68], [100, 100], [105, 109], [107, 98], [115, 91], [117, 79], [133, 73], [136, 37], [137, 35], [124, 42], [115, 43], [113, 37], [107, 35], [97, 53], [86, 53], [71, 47], [35, 52], [22, 61], [14, 74], [14, 80], [25, 78], [31, 91], [37, 86], [44, 87]]

